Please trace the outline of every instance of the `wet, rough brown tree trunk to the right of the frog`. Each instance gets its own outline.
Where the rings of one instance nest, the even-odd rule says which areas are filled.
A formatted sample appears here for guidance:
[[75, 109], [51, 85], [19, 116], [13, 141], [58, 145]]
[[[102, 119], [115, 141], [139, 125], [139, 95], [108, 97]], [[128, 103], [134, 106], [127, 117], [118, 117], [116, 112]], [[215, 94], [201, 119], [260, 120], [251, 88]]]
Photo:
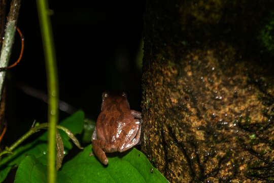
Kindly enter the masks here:
[[147, 1], [142, 150], [170, 182], [274, 182], [273, 3]]

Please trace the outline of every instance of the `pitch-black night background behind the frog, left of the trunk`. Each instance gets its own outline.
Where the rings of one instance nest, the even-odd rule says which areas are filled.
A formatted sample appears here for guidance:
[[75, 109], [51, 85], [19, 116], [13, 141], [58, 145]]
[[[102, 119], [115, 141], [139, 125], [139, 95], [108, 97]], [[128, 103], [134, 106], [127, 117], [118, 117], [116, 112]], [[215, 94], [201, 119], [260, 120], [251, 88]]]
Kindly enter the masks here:
[[[101, 93], [121, 89], [130, 107], [141, 110], [141, 48], [144, 1], [49, 1], [58, 65], [59, 98], [96, 120]], [[8, 2], [9, 3], [9, 2]], [[21, 62], [7, 75], [6, 145], [29, 130], [33, 120], [47, 122], [47, 104], [22, 86], [47, 93], [45, 60], [35, 1], [22, 1], [18, 27], [24, 35]], [[10, 62], [19, 56], [16, 35]], [[69, 114], [60, 111], [59, 119]]]

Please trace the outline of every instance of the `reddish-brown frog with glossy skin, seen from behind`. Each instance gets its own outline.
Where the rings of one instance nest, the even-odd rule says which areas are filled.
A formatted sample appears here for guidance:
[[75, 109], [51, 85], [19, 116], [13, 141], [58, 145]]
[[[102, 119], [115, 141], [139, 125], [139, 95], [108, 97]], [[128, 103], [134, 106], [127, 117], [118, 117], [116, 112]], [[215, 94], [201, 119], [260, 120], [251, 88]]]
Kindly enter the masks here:
[[[117, 92], [102, 93], [101, 112], [92, 134], [92, 149], [104, 165], [106, 153], [122, 153], [140, 143], [142, 113], [130, 110], [127, 95]], [[92, 153], [90, 154], [92, 156]]]

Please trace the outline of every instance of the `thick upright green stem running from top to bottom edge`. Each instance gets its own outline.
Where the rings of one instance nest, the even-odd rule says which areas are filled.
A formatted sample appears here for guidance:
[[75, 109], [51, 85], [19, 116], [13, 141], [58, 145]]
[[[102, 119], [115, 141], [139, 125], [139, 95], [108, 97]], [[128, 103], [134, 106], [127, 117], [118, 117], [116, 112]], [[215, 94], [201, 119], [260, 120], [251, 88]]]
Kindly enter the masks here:
[[48, 81], [48, 182], [54, 183], [56, 180], [55, 170], [55, 137], [56, 137], [56, 124], [58, 121], [58, 79], [57, 79], [57, 66], [55, 62], [55, 52], [53, 45], [52, 28], [49, 19], [50, 11], [48, 9], [48, 2], [46, 0], [37, 0], [37, 9], [40, 20], [42, 41], [44, 47], [44, 54], [46, 60], [47, 81]]

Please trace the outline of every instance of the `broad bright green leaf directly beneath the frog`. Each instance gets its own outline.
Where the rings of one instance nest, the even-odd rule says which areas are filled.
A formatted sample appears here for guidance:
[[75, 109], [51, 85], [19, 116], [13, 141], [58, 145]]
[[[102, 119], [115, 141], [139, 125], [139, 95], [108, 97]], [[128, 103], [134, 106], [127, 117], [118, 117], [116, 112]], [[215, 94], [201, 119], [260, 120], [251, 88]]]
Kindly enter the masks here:
[[[89, 156], [91, 145], [74, 159], [66, 162], [58, 173], [66, 174], [73, 182], [168, 182], [141, 151], [135, 148], [125, 153], [108, 154], [109, 165], [102, 165]], [[153, 172], [151, 172], [153, 169]]]

